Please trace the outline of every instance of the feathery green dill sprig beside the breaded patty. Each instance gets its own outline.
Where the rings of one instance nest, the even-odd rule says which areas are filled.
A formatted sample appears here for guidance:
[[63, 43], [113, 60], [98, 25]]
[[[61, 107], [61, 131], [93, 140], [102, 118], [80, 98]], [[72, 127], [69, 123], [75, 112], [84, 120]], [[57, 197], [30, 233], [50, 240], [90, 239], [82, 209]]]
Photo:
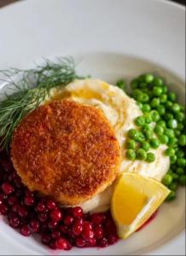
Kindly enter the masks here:
[[58, 58], [56, 62], [44, 60], [42, 65], [32, 69], [11, 68], [0, 70], [0, 74], [5, 77], [1, 80], [6, 82], [6, 88], [13, 90], [12, 94], [5, 92], [0, 101], [0, 148], [7, 150], [15, 127], [27, 113], [44, 102], [49, 90], [79, 78], [73, 58]]

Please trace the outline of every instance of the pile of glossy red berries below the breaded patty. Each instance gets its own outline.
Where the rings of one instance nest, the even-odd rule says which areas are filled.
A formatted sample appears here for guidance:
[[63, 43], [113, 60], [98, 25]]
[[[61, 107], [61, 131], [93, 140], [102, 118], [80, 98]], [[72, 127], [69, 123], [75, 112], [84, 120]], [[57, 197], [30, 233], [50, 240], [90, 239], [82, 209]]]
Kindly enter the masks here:
[[107, 247], [118, 241], [110, 212], [84, 213], [80, 207], [61, 209], [52, 199], [38, 197], [20, 181], [9, 157], [0, 152], [0, 214], [23, 236], [38, 233], [53, 249]]

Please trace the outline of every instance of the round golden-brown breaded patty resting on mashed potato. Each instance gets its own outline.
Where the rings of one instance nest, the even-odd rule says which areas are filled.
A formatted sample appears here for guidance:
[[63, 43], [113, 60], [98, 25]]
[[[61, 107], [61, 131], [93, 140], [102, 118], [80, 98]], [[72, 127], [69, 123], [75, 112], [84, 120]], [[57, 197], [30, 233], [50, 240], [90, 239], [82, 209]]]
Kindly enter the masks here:
[[120, 160], [119, 143], [102, 110], [67, 100], [28, 114], [15, 129], [11, 156], [29, 189], [67, 205], [106, 189]]

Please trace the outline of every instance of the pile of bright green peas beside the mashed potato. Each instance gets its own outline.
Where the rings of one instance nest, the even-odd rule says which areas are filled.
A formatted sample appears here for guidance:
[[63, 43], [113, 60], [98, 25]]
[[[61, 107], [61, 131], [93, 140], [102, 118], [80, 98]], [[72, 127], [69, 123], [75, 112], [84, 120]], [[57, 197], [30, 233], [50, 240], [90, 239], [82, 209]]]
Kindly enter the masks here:
[[[125, 90], [124, 80], [116, 84]], [[186, 184], [186, 124], [184, 107], [177, 103], [177, 95], [168, 90], [163, 79], [145, 73], [131, 81], [131, 97], [137, 101], [142, 115], [135, 119], [137, 128], [127, 133], [126, 156], [130, 160], [153, 162], [155, 155], [150, 148], [166, 144], [165, 154], [170, 157], [171, 167], [163, 177], [171, 193], [176, 197], [177, 186]]]

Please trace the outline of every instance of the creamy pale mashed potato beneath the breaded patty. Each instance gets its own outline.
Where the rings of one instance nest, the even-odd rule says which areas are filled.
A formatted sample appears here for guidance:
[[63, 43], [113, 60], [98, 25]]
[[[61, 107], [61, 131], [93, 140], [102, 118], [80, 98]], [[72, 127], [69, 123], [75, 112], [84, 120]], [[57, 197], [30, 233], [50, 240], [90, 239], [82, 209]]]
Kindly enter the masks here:
[[[52, 90], [52, 99], [71, 98], [75, 102], [92, 105], [102, 109], [106, 115], [118, 138], [121, 147], [122, 162], [119, 168], [120, 172], [137, 172], [145, 177], [154, 177], [161, 180], [166, 174], [169, 166], [169, 157], [163, 154], [165, 145], [160, 145], [154, 152], [156, 160], [153, 163], [147, 163], [142, 160], [128, 160], [125, 157], [126, 132], [135, 128], [134, 119], [142, 112], [137, 103], [127, 96], [123, 90], [111, 84], [107, 84], [98, 79], [76, 80], [68, 84], [65, 88]], [[84, 202], [85, 212], [102, 212], [108, 209], [113, 191], [113, 185], [108, 187], [101, 194], [96, 195], [89, 201]]]

